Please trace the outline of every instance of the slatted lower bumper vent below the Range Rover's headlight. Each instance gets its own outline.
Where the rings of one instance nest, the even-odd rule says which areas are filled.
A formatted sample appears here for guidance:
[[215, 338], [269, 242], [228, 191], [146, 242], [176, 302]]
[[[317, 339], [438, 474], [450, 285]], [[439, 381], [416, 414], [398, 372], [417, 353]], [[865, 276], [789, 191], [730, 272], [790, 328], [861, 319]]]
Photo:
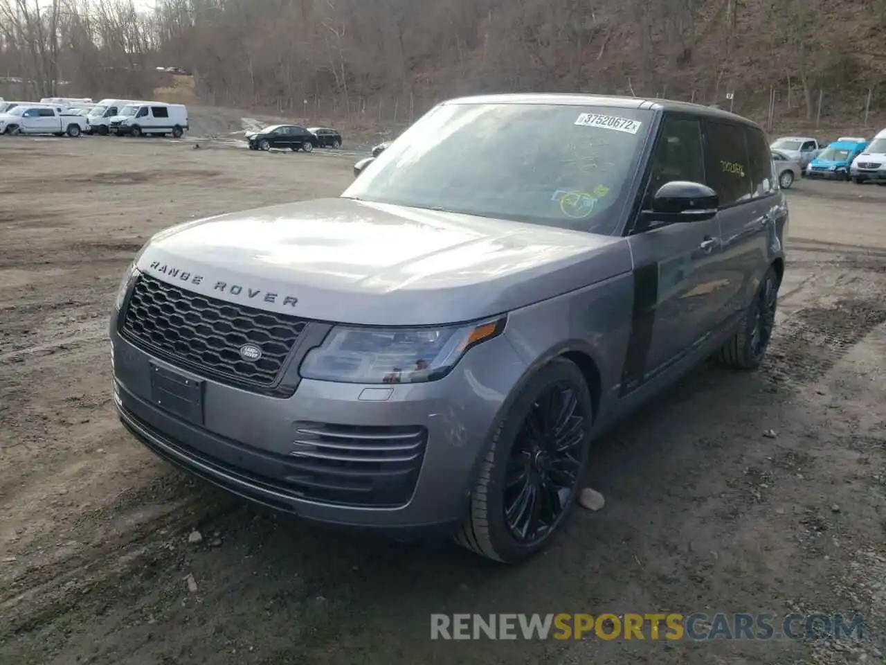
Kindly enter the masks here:
[[303, 496], [376, 507], [403, 505], [412, 497], [427, 441], [424, 427], [295, 426], [284, 480]]

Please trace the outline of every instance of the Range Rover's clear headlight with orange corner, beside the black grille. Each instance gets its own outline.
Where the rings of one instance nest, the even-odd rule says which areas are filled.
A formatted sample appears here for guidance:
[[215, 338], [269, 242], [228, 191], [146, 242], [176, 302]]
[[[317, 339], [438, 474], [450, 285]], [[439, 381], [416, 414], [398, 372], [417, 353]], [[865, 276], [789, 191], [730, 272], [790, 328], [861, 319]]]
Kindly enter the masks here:
[[424, 383], [442, 379], [470, 348], [497, 337], [507, 317], [439, 328], [340, 325], [305, 356], [305, 379], [338, 383]]

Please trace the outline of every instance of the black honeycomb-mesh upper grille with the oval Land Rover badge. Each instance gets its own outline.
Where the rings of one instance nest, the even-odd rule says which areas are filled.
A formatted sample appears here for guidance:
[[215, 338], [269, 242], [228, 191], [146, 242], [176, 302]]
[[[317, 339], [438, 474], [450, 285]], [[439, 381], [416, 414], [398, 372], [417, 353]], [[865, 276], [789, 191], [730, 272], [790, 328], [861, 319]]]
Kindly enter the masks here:
[[[148, 275], [136, 278], [120, 334], [171, 364], [220, 383], [269, 395], [307, 321], [209, 298]], [[261, 356], [247, 362], [240, 348], [253, 344]]]

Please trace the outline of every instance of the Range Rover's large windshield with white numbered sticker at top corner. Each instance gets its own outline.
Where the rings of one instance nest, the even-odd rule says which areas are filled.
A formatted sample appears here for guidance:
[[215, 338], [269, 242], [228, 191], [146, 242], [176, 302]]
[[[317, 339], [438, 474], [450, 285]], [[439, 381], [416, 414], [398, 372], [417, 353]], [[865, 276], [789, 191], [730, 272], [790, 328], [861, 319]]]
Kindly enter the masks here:
[[342, 196], [610, 234], [651, 119], [615, 107], [446, 104]]

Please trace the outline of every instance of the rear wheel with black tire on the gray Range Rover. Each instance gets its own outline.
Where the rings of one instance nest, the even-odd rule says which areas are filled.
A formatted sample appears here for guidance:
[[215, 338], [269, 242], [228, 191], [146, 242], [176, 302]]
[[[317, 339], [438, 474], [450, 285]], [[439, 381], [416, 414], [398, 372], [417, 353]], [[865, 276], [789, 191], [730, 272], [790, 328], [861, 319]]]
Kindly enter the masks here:
[[[766, 349], [775, 328], [775, 311], [778, 306], [778, 289], [781, 283], [772, 266], [766, 270], [754, 301], [742, 317], [742, 325], [734, 337], [719, 350], [720, 364], [734, 370], [756, 370], [763, 363]], [[768, 332], [759, 324], [768, 325]], [[755, 336], [758, 335], [759, 337]], [[759, 342], [759, 343], [758, 343]]]

